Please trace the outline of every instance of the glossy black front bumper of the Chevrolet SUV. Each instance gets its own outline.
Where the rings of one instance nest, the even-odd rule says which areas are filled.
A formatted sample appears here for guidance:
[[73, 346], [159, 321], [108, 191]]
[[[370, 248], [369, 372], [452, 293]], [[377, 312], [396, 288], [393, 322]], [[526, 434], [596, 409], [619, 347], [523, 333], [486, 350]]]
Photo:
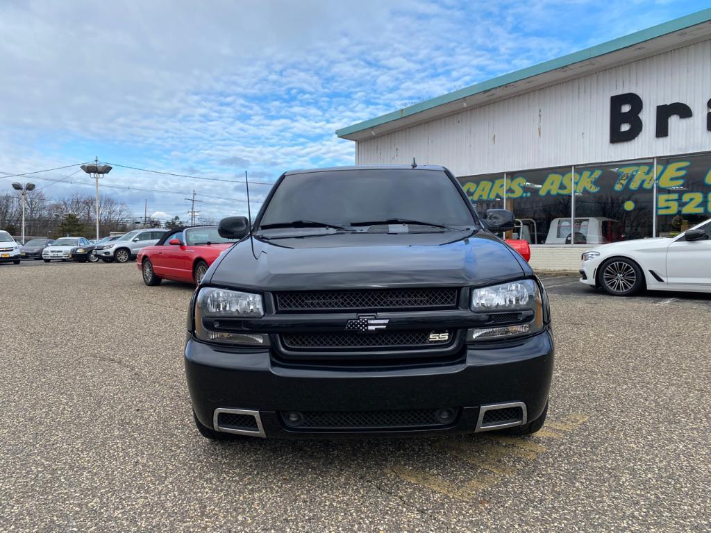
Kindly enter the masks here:
[[[188, 336], [185, 367], [193, 410], [214, 427], [215, 409], [258, 411], [264, 436], [318, 438], [405, 436], [474, 431], [479, 407], [523, 402], [528, 421], [548, 399], [553, 368], [550, 328], [488, 347], [468, 346], [459, 362], [413, 367], [328, 368], [283, 365], [269, 350], [218, 348]], [[436, 429], [290, 429], [283, 411], [396, 411], [456, 408], [454, 423]]]

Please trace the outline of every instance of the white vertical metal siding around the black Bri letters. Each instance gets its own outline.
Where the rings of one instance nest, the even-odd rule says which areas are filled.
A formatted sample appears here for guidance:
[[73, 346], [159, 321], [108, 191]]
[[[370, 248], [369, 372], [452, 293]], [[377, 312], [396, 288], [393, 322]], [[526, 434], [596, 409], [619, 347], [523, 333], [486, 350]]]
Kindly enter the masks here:
[[[636, 92], [643, 129], [633, 141], [610, 144], [610, 97]], [[577, 163], [711, 150], [706, 129], [711, 99], [711, 41], [703, 41], [467, 109], [424, 124], [357, 141], [357, 164], [441, 164], [471, 176]], [[669, 121], [656, 139], [656, 107], [684, 102], [693, 117]]]

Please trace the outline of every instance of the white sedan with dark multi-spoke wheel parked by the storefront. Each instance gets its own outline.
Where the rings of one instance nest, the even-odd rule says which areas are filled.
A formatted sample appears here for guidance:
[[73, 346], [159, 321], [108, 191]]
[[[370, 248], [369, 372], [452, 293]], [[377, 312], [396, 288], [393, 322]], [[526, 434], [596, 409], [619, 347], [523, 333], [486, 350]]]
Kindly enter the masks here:
[[711, 293], [711, 220], [676, 237], [612, 242], [582, 254], [580, 281], [613, 296], [642, 289]]

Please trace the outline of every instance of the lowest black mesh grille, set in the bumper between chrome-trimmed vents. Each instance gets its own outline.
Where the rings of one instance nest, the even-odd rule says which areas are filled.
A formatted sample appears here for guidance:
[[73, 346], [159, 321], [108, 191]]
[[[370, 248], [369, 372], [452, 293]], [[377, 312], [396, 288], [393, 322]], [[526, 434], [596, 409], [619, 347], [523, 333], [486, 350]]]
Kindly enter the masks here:
[[[379, 429], [414, 429], [451, 426], [459, 416], [459, 409], [448, 409], [449, 420], [437, 417], [442, 409], [409, 409], [407, 411], [299, 411], [296, 421], [290, 421], [292, 411], [279, 413], [282, 423], [292, 429], [357, 431]], [[451, 414], [454, 413], [454, 416]]]

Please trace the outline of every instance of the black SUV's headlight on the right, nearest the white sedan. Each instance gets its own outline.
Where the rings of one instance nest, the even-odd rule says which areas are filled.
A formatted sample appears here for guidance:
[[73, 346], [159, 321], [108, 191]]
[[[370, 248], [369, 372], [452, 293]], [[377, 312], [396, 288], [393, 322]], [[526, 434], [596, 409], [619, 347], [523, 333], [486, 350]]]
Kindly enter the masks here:
[[466, 332], [469, 342], [530, 335], [543, 328], [543, 298], [533, 279], [472, 289], [470, 308], [475, 313], [493, 316], [505, 313], [510, 316], [506, 316], [503, 322], [519, 323], [470, 329]]

